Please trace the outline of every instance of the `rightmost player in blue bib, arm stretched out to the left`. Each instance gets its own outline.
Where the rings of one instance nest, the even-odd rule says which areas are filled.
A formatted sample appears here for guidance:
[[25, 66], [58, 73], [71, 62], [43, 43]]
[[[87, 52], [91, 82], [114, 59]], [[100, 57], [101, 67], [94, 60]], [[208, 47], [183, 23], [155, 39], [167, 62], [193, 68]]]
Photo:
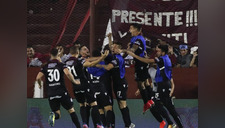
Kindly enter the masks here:
[[[157, 71], [155, 76], [155, 82], [157, 85], [157, 93], [155, 93], [155, 98], [159, 99], [160, 102], [167, 108], [169, 113], [174, 118], [179, 128], [183, 128], [181, 119], [175, 110], [171, 94], [171, 80], [172, 80], [172, 64], [167, 55], [168, 45], [159, 45], [157, 49], [157, 55], [155, 59], [147, 59], [135, 55], [134, 53], [127, 51], [127, 53], [134, 58], [145, 62], [145, 63], [157, 63]], [[173, 81], [173, 80], [172, 80]], [[172, 127], [172, 126], [169, 126]]]

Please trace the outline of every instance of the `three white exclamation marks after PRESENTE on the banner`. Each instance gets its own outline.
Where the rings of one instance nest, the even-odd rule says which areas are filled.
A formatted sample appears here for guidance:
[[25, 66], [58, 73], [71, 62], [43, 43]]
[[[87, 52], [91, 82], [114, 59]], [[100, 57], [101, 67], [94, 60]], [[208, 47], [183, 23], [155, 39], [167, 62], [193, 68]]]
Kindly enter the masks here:
[[186, 27], [198, 26], [197, 10], [190, 10], [186, 12]]

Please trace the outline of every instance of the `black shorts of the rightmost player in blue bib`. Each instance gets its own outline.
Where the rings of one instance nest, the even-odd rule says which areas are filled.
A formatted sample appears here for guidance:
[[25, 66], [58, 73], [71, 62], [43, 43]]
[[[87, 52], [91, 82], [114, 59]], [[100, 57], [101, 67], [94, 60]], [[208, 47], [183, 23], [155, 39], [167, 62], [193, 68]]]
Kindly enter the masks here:
[[160, 101], [166, 101], [171, 99], [170, 92], [171, 92], [171, 82], [169, 80], [156, 83], [157, 85], [157, 92], [155, 93], [155, 99]]

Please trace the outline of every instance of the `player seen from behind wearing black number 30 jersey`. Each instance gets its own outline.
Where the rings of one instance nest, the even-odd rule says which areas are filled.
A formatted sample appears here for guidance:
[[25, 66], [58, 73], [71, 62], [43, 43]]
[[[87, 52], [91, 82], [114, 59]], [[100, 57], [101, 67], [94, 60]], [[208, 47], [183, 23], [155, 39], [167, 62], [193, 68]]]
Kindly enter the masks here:
[[41, 88], [41, 78], [45, 76], [48, 101], [52, 112], [49, 116], [49, 124], [51, 127], [55, 124], [55, 119], [60, 118], [60, 104], [70, 113], [71, 119], [77, 128], [80, 123], [77, 114], [73, 108], [73, 100], [69, 96], [64, 83], [64, 74], [77, 86], [80, 86], [80, 81], [74, 80], [73, 75], [69, 72], [68, 68], [57, 60], [58, 50], [53, 48], [50, 52], [51, 60], [41, 68], [36, 80]]

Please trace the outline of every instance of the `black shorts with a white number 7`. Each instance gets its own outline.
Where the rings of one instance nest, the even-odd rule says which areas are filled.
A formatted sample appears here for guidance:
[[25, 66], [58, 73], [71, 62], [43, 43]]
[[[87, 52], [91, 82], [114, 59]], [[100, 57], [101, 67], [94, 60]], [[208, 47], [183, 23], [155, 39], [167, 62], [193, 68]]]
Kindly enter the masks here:
[[126, 100], [127, 99], [127, 89], [128, 84], [127, 81], [124, 79], [121, 82], [113, 83], [113, 91], [116, 95], [117, 100]]

